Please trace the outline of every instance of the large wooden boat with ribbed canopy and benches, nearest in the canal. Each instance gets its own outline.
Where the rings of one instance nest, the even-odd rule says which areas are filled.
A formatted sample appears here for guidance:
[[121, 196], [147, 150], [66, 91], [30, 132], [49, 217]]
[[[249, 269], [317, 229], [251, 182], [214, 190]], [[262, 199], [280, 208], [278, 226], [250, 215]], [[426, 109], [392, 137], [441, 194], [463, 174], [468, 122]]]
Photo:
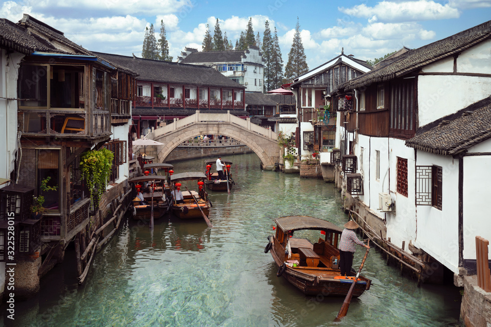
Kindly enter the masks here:
[[[269, 243], [264, 252], [271, 250], [278, 266], [276, 275], [285, 277], [305, 295], [346, 296], [354, 277], [342, 277], [338, 264], [334, 264], [335, 259], [339, 261], [338, 244], [343, 230], [325, 220], [308, 216], [280, 217], [275, 222], [276, 234], [268, 236]], [[312, 243], [308, 238], [294, 237], [294, 232], [310, 239], [324, 236], [324, 233], [326, 236]], [[363, 294], [370, 284], [370, 279], [360, 275], [353, 297]]]

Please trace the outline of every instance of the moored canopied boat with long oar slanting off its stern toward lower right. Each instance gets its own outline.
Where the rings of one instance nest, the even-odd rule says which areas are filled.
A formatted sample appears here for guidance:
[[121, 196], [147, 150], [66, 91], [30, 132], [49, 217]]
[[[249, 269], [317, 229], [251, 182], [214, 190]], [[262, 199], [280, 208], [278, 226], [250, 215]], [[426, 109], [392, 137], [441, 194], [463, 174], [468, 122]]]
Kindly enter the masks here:
[[[199, 182], [204, 181], [205, 179], [205, 174], [200, 172], [180, 173], [170, 176], [172, 189], [176, 188], [176, 183], [182, 183], [191, 180]], [[197, 186], [198, 185], [194, 187]], [[190, 187], [190, 184], [188, 184], [188, 187]], [[184, 189], [184, 191], [182, 189]], [[202, 187], [199, 191], [195, 191], [192, 189], [188, 191], [183, 185], [182, 189], [181, 192], [184, 197], [184, 203], [176, 203], [175, 201], [172, 201], [170, 207], [172, 213], [181, 219], [195, 219], [202, 217], [202, 211], [208, 217], [208, 214], [210, 213], [210, 201], [208, 200], [208, 193], [206, 193], [204, 187]], [[198, 202], [197, 204], [195, 200]]]

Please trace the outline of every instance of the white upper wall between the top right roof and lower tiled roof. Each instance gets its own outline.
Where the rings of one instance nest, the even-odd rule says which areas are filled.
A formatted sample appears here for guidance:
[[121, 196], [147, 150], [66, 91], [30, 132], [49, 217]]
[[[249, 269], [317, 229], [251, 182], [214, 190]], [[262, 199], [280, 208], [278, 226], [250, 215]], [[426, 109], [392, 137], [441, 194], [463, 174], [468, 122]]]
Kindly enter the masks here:
[[[480, 73], [480, 72], [476, 72]], [[427, 125], [491, 95], [491, 78], [425, 75], [418, 78], [419, 126]]]

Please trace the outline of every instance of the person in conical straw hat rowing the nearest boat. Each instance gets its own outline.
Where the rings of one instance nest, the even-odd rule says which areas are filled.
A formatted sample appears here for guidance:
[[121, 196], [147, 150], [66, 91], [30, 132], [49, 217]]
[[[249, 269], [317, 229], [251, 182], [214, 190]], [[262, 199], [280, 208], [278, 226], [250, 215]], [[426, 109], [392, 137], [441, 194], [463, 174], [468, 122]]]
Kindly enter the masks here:
[[354, 276], [352, 275], [351, 267], [353, 266], [356, 244], [367, 249], [370, 249], [370, 246], [365, 245], [356, 236], [355, 229], [358, 228], [358, 224], [353, 220], [344, 224], [344, 228], [339, 242], [339, 269], [341, 270], [341, 276]]

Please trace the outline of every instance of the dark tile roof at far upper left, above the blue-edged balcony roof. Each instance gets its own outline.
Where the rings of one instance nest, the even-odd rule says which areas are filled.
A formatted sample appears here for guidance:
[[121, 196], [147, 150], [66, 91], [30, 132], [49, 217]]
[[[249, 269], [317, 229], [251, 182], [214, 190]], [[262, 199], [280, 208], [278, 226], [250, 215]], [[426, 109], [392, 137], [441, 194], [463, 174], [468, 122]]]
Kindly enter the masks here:
[[12, 49], [24, 54], [34, 51], [57, 51], [49, 43], [43, 43], [26, 28], [16, 25], [8, 19], [0, 19], [0, 47]]

